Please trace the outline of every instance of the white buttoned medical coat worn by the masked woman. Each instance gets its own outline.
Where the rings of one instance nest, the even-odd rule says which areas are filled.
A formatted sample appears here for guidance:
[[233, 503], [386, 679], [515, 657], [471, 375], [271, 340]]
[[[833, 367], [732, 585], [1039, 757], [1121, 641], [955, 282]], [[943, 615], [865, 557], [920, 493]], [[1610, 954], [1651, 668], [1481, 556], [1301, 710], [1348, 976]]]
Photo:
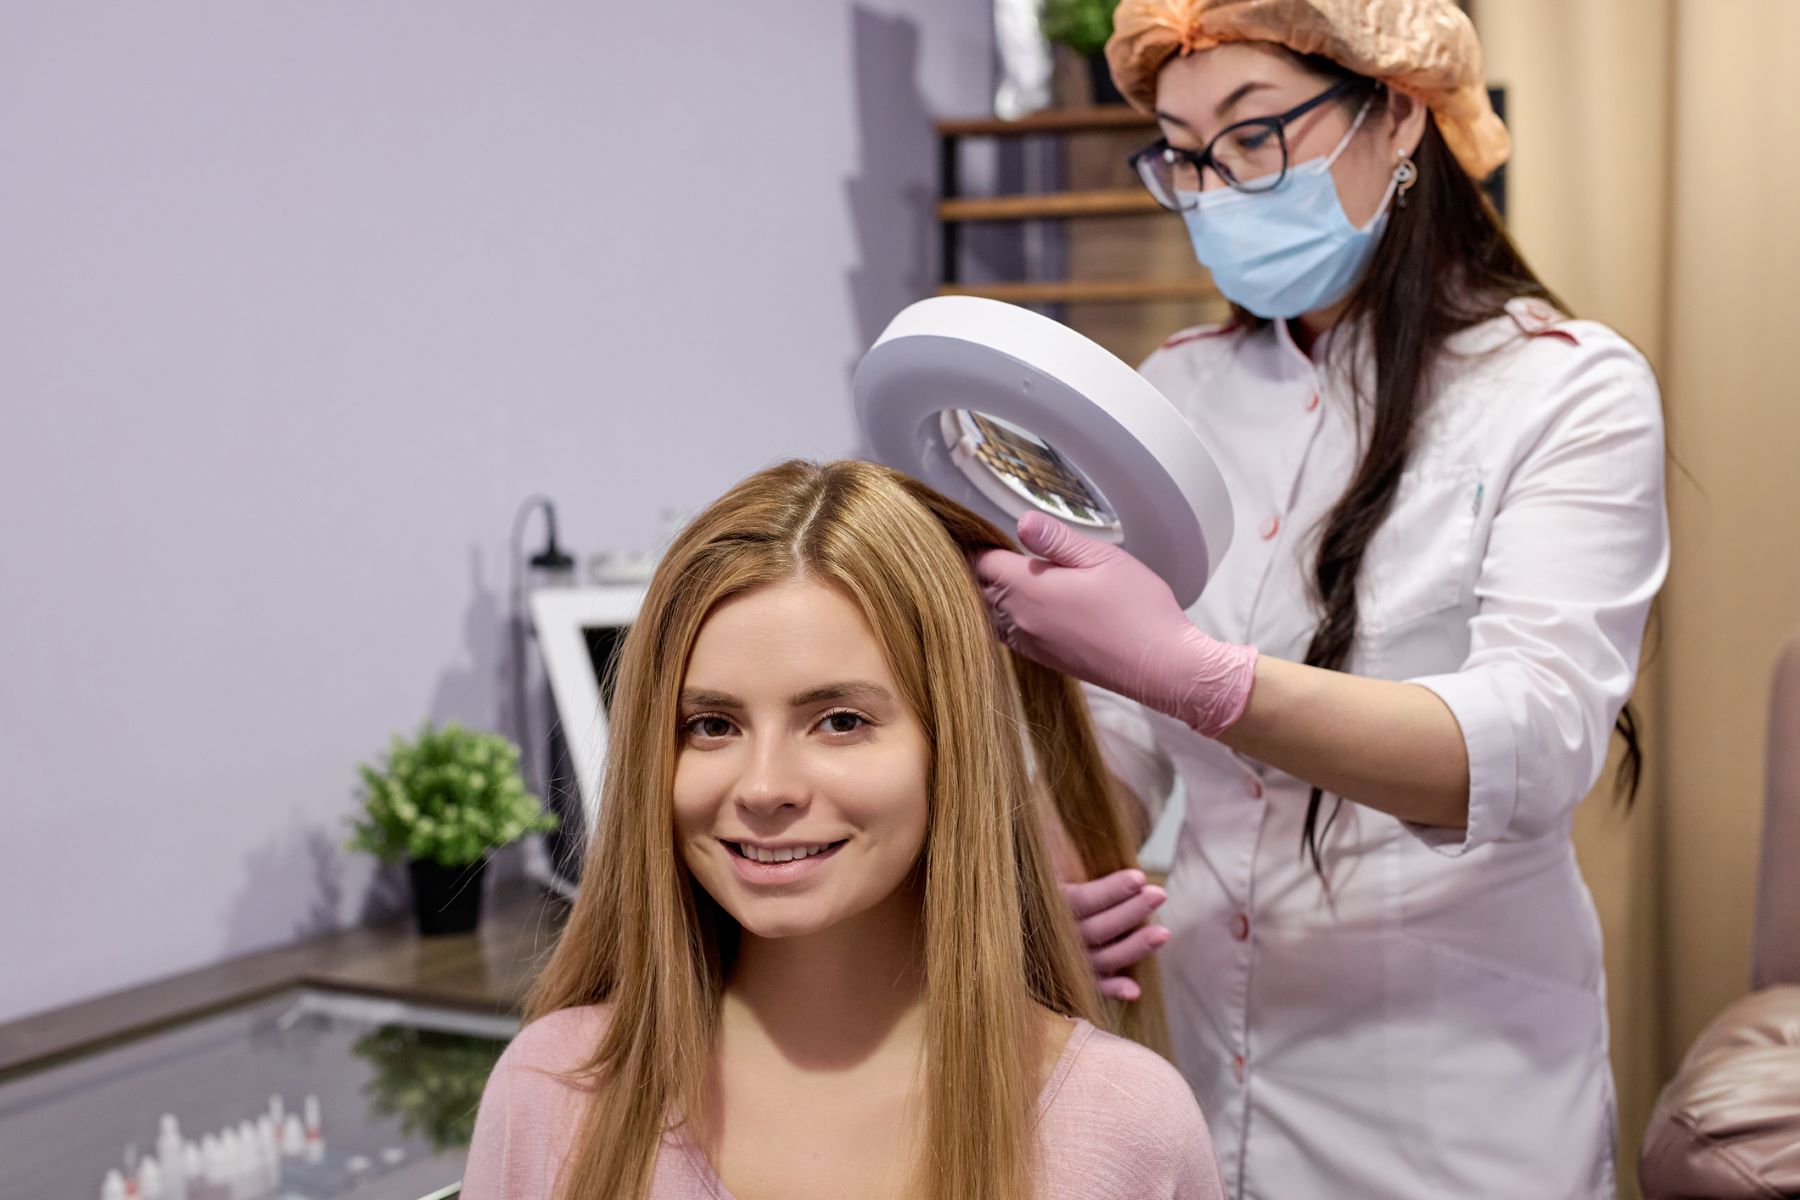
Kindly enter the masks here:
[[[1336, 371], [1280, 322], [1188, 331], [1143, 365], [1237, 509], [1188, 615], [1296, 662], [1316, 533], [1359, 453]], [[1600, 927], [1570, 819], [1667, 561], [1649, 365], [1604, 326], [1516, 300], [1440, 363], [1363, 563], [1348, 664], [1454, 712], [1467, 831], [1346, 801], [1327, 896], [1301, 858], [1309, 784], [1089, 691], [1112, 770], [1152, 813], [1177, 777], [1186, 792], [1157, 961], [1229, 1196], [1611, 1200]]]

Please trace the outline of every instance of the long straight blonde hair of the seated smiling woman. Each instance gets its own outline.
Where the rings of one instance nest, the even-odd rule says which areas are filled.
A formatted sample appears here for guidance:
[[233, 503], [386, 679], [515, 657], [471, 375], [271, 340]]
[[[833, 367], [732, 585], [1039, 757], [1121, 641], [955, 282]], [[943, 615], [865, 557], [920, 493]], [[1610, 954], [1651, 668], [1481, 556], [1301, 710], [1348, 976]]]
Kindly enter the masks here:
[[706, 1083], [738, 927], [675, 844], [677, 698], [713, 608], [785, 579], [835, 587], [862, 610], [931, 747], [916, 869], [927, 1117], [909, 1195], [1033, 1195], [1044, 1054], [1035, 1006], [1161, 1049], [1152, 970], [1136, 972], [1143, 1000], [1103, 1011], [1057, 891], [1040, 797], [1089, 873], [1129, 865], [1132, 846], [1080, 691], [992, 633], [967, 560], [990, 547], [1010, 542], [905, 475], [869, 462], [787, 462], [733, 488], [664, 554], [617, 662], [581, 891], [526, 1000], [527, 1020], [612, 1006], [576, 1072], [590, 1099], [558, 1196], [641, 1198], [666, 1130], [686, 1123], [706, 1144]]

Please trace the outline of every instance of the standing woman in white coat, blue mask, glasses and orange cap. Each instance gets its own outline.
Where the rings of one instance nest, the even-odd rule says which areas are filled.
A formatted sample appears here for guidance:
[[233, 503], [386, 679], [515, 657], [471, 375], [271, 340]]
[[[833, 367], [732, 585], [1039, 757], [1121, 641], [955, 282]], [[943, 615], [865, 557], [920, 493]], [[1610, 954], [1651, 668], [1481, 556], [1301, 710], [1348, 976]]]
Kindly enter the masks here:
[[1096, 970], [1159, 946], [1231, 1196], [1609, 1200], [1570, 819], [1615, 721], [1638, 761], [1656, 380], [1483, 200], [1508, 139], [1449, 0], [1123, 0], [1114, 29], [1161, 126], [1136, 169], [1235, 313], [1143, 372], [1237, 529], [1186, 612], [1040, 515], [1037, 561], [977, 563], [1010, 644], [1105, 689], [1143, 815], [1186, 795], [1166, 903], [1069, 889]]

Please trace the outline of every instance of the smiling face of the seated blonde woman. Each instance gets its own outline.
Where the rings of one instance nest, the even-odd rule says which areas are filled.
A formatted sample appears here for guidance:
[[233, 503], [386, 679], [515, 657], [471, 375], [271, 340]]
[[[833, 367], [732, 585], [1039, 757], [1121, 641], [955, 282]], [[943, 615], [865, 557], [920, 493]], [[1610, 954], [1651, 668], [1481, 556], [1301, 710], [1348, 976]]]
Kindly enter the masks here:
[[682, 680], [675, 835], [745, 932], [812, 934], [889, 898], [925, 844], [931, 747], [875, 631], [796, 579], [734, 596]]

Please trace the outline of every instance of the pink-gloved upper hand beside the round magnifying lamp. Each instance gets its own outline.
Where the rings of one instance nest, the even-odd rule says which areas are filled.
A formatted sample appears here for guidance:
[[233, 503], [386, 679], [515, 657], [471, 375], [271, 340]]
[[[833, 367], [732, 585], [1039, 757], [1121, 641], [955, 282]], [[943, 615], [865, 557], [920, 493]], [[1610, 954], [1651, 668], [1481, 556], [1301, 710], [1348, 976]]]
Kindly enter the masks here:
[[1255, 646], [1206, 637], [1161, 576], [1053, 516], [1021, 516], [1019, 542], [1039, 558], [1012, 551], [976, 556], [981, 594], [1008, 646], [1208, 738], [1244, 714], [1256, 675]]

